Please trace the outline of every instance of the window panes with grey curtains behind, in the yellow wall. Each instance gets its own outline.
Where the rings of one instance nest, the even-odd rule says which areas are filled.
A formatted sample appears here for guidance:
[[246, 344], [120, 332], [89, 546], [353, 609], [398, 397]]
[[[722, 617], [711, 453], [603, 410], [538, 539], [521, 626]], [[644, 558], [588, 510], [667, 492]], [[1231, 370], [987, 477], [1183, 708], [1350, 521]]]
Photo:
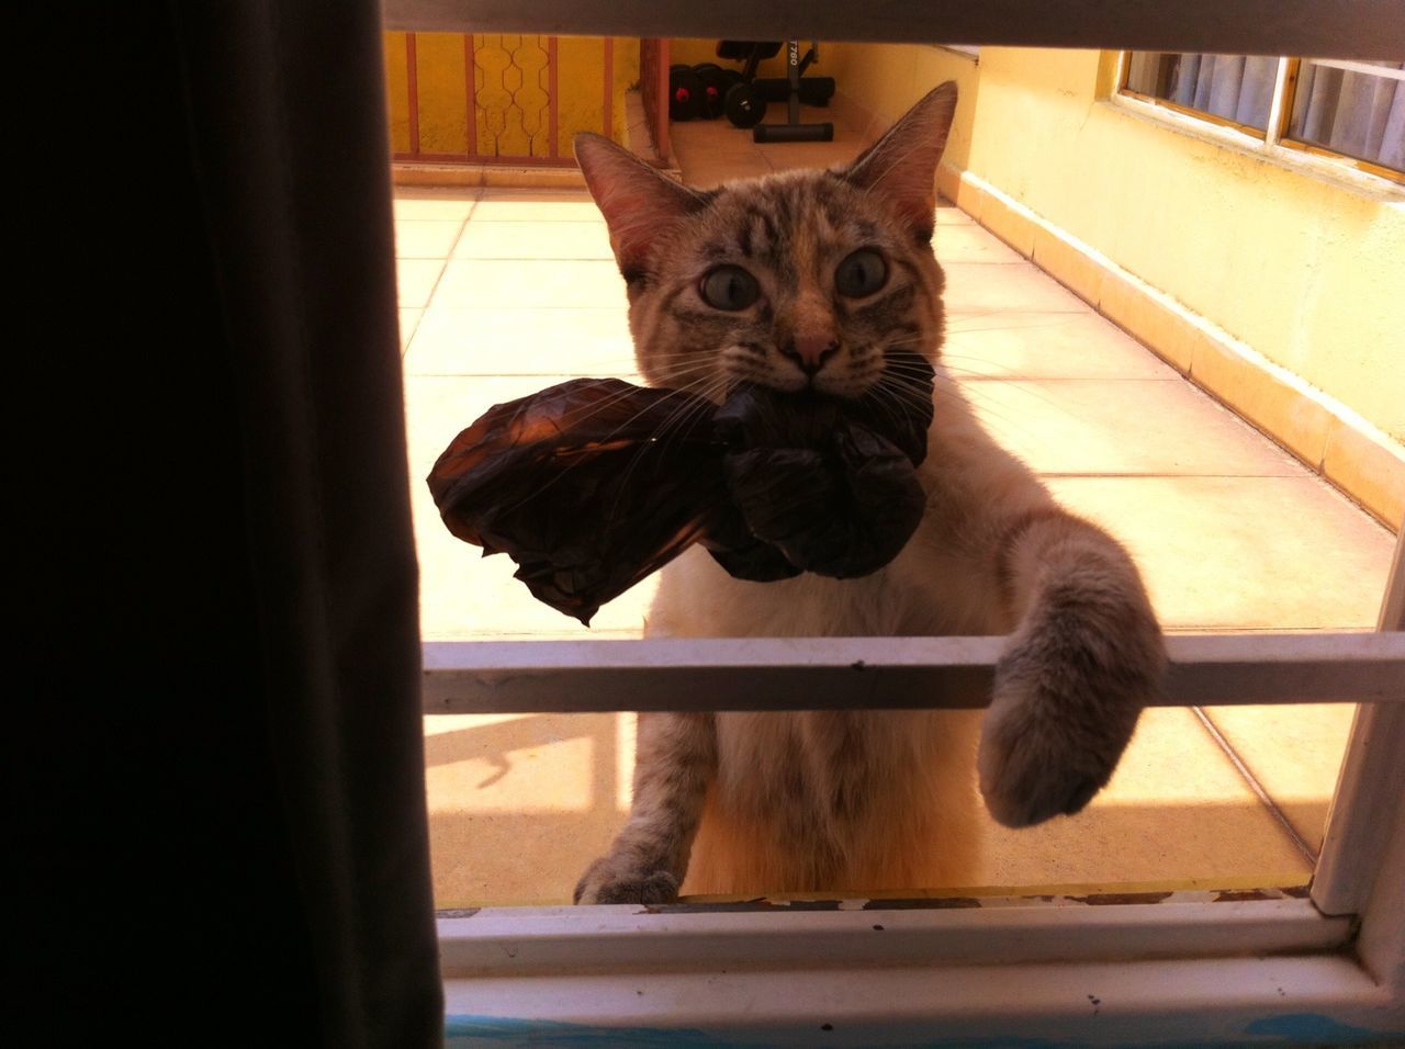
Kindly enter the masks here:
[[1121, 93], [1401, 180], [1405, 62], [1128, 52]]

